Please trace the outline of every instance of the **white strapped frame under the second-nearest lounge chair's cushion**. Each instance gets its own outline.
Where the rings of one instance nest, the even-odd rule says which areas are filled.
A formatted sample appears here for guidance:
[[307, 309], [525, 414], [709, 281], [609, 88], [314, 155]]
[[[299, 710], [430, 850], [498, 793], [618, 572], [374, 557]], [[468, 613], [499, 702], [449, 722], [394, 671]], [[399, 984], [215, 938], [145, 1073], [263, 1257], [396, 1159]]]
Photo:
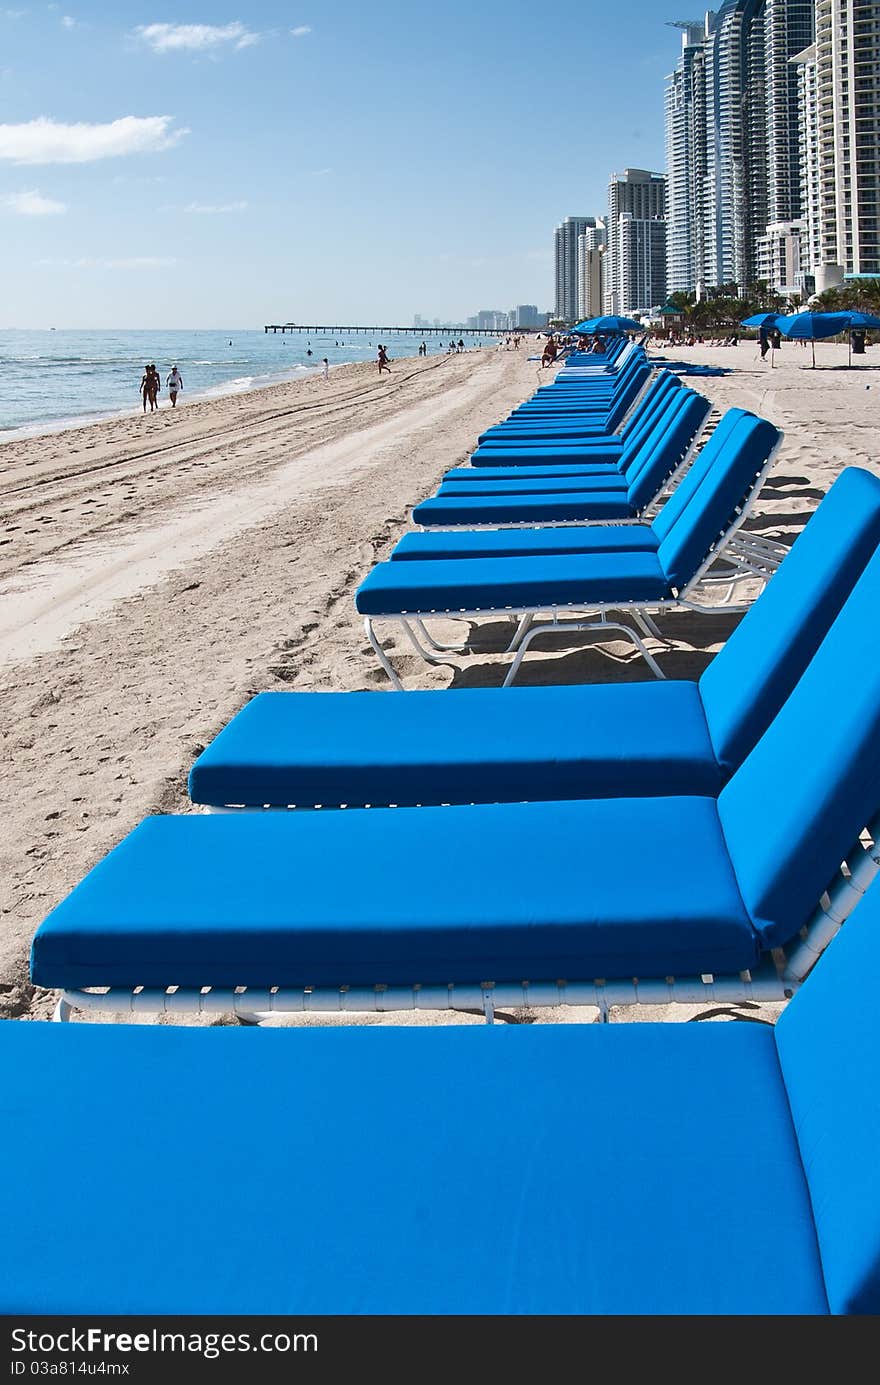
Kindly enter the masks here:
[[[285, 810], [283, 810], [285, 812]], [[829, 942], [880, 873], [880, 813], [847, 852], [812, 917], [787, 947], [766, 953], [753, 971], [736, 975], [664, 976], [606, 981], [521, 981], [412, 986], [168, 986], [62, 990], [54, 1019], [72, 1011], [133, 1015], [234, 1014], [259, 1022], [270, 1014], [355, 1014], [417, 1010], [482, 1012], [492, 1024], [496, 1010], [595, 1006], [607, 1022], [613, 1006], [744, 1004], [790, 1000]]]

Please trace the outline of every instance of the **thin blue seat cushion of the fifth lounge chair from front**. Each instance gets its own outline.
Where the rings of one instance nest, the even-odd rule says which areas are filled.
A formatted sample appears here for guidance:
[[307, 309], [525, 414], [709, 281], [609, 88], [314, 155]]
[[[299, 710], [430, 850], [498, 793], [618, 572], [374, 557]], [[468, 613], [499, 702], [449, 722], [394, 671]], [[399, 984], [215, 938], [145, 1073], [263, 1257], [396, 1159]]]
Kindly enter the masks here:
[[391, 550], [402, 558], [542, 557], [552, 553], [655, 553], [657, 535], [647, 524], [561, 525], [546, 529], [464, 529], [446, 533], [416, 529]]

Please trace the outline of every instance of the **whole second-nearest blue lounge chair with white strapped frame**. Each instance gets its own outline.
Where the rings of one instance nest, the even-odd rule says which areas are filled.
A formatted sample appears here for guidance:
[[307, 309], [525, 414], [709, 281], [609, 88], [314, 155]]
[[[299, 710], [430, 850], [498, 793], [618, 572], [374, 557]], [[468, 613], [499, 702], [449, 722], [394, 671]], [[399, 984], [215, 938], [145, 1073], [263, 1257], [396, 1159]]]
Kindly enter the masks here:
[[33, 982], [104, 1010], [784, 999], [880, 864], [879, 600], [876, 553], [716, 798], [151, 817], [43, 921]]

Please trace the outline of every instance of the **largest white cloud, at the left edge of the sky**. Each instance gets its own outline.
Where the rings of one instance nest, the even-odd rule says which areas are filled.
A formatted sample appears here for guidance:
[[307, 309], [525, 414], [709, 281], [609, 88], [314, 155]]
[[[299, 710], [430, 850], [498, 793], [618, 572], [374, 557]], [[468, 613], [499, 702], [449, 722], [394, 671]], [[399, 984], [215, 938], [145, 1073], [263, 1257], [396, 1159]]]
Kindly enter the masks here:
[[24, 125], [0, 125], [0, 162], [91, 163], [123, 154], [158, 154], [186, 129], [169, 129], [172, 115], [123, 115], [108, 125], [62, 125], [39, 116]]

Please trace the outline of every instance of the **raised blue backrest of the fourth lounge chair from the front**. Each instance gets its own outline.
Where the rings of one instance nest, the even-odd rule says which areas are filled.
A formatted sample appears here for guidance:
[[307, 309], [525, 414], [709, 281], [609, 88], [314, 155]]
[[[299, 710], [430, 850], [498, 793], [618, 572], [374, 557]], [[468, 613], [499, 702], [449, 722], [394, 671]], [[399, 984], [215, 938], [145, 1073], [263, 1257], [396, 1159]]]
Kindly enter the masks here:
[[754, 414], [737, 418], [721, 442], [715, 429], [682, 481], [682, 486], [690, 482], [698, 493], [693, 503], [685, 503], [657, 550], [671, 587], [683, 591], [694, 580], [718, 539], [729, 532], [780, 436], [773, 424]]

